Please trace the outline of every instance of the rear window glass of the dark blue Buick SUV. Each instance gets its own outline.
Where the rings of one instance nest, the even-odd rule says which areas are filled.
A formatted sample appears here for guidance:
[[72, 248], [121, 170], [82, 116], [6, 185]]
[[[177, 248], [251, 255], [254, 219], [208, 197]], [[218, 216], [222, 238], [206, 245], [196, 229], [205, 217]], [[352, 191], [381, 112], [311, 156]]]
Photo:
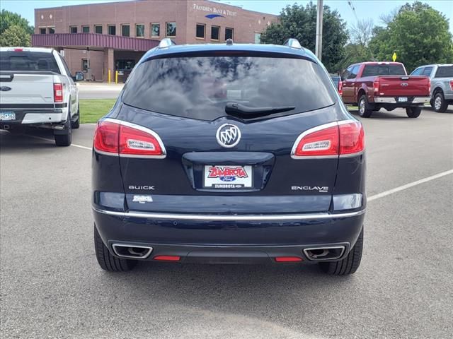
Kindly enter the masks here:
[[175, 57], [139, 64], [122, 100], [140, 109], [212, 121], [226, 115], [227, 102], [294, 107], [275, 117], [328, 107], [336, 94], [321, 66], [304, 59]]

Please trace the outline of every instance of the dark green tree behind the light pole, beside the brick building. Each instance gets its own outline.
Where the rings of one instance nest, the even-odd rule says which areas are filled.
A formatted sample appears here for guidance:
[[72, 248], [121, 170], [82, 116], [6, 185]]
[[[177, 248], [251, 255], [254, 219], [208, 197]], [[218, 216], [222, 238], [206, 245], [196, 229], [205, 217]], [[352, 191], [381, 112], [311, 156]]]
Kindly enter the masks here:
[[[323, 49], [322, 61], [329, 71], [337, 71], [336, 65], [345, 54], [348, 41], [348, 30], [345, 21], [338, 11], [323, 7]], [[310, 3], [305, 7], [294, 4], [286, 6], [280, 13], [280, 22], [272, 23], [261, 35], [261, 42], [282, 44], [294, 37], [302, 46], [315, 50], [316, 42], [316, 5]]]

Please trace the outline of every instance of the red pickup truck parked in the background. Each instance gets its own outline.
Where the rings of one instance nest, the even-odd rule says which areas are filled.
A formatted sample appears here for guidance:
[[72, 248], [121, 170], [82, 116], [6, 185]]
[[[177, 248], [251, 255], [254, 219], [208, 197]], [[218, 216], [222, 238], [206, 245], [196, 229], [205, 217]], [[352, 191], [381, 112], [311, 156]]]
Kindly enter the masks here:
[[371, 117], [373, 111], [406, 108], [410, 118], [420, 115], [425, 102], [430, 102], [430, 79], [408, 76], [399, 62], [362, 62], [353, 64], [341, 76], [343, 102], [357, 105], [360, 117]]

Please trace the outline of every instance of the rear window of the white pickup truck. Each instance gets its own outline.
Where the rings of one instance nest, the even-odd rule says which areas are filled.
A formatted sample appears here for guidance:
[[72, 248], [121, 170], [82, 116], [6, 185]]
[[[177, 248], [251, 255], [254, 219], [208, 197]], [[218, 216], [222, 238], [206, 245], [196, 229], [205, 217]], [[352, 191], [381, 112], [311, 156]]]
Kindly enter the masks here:
[[60, 73], [52, 53], [0, 52], [0, 71], [52, 71]]

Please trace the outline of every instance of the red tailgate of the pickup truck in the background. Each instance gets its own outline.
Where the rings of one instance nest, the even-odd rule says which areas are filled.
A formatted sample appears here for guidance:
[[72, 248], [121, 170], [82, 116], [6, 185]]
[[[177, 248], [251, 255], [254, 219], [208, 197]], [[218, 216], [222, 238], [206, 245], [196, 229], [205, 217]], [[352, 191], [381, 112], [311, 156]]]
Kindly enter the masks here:
[[377, 79], [379, 79], [379, 96], [430, 96], [430, 79], [426, 76], [378, 76]]

